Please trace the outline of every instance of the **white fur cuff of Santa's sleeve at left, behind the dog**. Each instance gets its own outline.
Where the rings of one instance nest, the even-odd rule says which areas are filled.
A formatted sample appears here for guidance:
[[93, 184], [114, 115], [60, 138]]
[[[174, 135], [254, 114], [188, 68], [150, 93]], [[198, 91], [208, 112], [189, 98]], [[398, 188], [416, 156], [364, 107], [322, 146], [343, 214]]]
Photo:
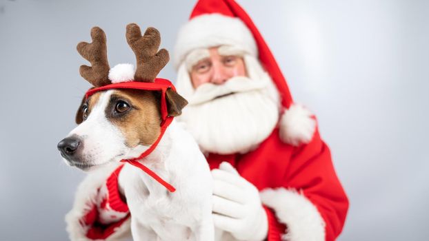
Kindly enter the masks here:
[[[77, 188], [73, 208], [66, 215], [66, 230], [70, 240], [90, 240], [86, 238], [88, 228], [83, 227], [79, 220], [92, 209], [92, 205], [96, 202], [97, 190], [106, 182], [108, 176], [116, 167], [117, 165], [111, 165], [90, 172]], [[130, 219], [126, 220], [120, 227], [117, 227], [115, 233], [106, 240], [121, 240], [121, 238], [126, 238], [127, 236], [130, 237]]]

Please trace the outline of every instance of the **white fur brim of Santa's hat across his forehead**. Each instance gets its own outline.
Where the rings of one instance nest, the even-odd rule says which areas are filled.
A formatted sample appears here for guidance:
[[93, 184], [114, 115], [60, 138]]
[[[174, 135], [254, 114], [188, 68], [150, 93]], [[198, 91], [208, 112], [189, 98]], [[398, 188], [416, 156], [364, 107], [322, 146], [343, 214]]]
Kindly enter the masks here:
[[174, 67], [177, 70], [194, 49], [220, 45], [235, 46], [253, 56], [258, 54], [255, 39], [241, 19], [217, 13], [203, 14], [194, 17], [179, 30], [174, 46]]

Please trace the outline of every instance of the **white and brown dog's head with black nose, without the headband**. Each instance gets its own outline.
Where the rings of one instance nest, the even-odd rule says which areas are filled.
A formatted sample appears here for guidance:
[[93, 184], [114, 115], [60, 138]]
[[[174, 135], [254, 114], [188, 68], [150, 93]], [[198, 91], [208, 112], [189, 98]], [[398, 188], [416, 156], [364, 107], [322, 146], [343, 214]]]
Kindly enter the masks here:
[[[166, 92], [168, 116], [178, 116], [186, 100]], [[161, 132], [161, 93], [147, 90], [107, 90], [83, 98], [79, 124], [58, 144], [68, 165], [83, 170], [146, 151]]]

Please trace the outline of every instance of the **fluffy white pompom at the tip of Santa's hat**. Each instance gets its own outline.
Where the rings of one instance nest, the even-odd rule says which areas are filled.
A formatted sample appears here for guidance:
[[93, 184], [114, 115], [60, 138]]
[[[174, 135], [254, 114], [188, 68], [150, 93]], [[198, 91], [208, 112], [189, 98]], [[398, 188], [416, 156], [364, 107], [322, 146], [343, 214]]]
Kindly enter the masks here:
[[281, 140], [290, 145], [309, 143], [315, 134], [316, 120], [312, 118], [312, 113], [301, 105], [290, 105], [281, 116], [279, 124]]

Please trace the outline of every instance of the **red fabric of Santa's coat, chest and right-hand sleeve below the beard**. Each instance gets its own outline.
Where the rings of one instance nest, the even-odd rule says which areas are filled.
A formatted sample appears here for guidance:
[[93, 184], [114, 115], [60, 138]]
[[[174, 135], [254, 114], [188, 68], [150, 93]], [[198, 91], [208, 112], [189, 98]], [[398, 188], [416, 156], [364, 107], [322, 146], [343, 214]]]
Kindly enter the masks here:
[[341, 233], [348, 198], [318, 132], [307, 145], [292, 147], [280, 140], [279, 129], [275, 129], [255, 151], [236, 157], [232, 162], [235, 168], [257, 189], [284, 187], [303, 191], [326, 222], [326, 240], [335, 240]]

